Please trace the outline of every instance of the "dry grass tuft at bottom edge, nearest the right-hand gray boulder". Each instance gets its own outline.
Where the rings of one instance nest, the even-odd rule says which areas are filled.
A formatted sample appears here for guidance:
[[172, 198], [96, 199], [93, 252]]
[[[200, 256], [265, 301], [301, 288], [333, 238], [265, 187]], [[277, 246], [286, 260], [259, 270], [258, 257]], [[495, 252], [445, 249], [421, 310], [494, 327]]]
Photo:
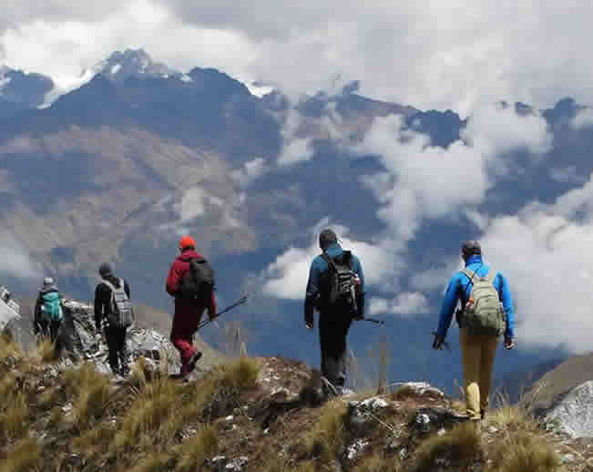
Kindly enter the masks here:
[[498, 441], [490, 452], [488, 472], [557, 472], [562, 461], [554, 447], [536, 434], [520, 431]]

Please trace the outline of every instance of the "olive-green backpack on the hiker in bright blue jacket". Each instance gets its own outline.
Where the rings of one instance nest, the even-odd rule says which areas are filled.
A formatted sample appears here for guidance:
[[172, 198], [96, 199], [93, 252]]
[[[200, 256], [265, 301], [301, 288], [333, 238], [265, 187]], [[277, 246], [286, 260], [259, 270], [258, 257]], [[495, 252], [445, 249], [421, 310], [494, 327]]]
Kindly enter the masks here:
[[465, 269], [462, 273], [474, 286], [469, 295], [469, 301], [465, 305], [460, 326], [472, 335], [500, 336], [505, 333], [505, 308], [500, 303], [494, 286], [496, 272], [490, 270], [485, 277], [469, 269]]

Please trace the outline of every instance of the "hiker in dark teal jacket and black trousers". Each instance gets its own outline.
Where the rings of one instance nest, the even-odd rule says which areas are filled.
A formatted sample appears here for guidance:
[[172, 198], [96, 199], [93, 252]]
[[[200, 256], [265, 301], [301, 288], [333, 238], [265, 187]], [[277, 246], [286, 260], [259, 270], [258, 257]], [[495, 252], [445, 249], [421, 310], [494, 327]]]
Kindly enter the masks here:
[[[322, 350], [322, 375], [331, 385], [323, 385], [326, 393], [340, 395], [346, 380], [346, 337], [353, 320], [364, 317], [363, 266], [350, 251], [343, 251], [332, 230], [323, 230], [319, 236], [322, 255], [313, 259], [307, 282], [304, 319], [308, 329], [314, 327], [313, 311], [319, 311], [319, 338]], [[329, 261], [329, 262], [328, 262]], [[355, 274], [355, 304], [331, 300], [331, 275], [335, 264], [350, 267]]]

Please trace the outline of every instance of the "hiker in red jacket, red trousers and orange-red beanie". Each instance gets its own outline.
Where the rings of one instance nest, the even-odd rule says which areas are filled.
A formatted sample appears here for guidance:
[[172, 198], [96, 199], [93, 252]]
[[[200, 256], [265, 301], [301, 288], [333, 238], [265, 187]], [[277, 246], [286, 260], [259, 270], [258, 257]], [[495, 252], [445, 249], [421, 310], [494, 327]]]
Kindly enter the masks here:
[[177, 257], [169, 270], [167, 277], [167, 292], [175, 297], [175, 315], [171, 328], [171, 343], [175, 345], [181, 356], [181, 377], [185, 377], [196, 368], [202, 353], [193, 345], [193, 336], [198, 331], [198, 324], [204, 310], [208, 309], [208, 316], [213, 319], [216, 315], [216, 297], [213, 285], [210, 293], [189, 298], [183, 297], [182, 285], [188, 279], [189, 262], [193, 259], [202, 260], [201, 254], [196, 252], [196, 242], [189, 236], [184, 236], [179, 241]]

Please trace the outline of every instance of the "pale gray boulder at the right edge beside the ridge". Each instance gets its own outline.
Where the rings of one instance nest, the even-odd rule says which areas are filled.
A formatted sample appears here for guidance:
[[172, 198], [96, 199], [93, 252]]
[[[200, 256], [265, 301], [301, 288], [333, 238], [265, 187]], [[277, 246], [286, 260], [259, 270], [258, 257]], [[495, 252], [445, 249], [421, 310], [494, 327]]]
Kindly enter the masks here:
[[568, 393], [544, 418], [557, 430], [571, 436], [593, 437], [593, 381], [585, 382]]

